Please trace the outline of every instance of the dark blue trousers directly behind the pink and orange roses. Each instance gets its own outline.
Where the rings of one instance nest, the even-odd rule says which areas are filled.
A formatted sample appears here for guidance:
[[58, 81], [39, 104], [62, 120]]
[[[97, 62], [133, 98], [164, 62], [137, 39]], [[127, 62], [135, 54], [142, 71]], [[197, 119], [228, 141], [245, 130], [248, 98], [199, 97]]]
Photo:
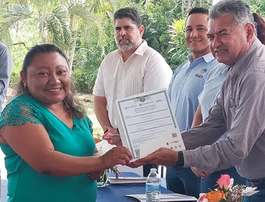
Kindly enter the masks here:
[[246, 185], [246, 179], [240, 177], [240, 175], [237, 173], [236, 169], [234, 167], [219, 170], [216, 172], [213, 172], [205, 179], [201, 179], [201, 192], [207, 193], [211, 190], [214, 190], [217, 188], [217, 181], [221, 177], [221, 175], [228, 174], [231, 178], [234, 178], [234, 185]]

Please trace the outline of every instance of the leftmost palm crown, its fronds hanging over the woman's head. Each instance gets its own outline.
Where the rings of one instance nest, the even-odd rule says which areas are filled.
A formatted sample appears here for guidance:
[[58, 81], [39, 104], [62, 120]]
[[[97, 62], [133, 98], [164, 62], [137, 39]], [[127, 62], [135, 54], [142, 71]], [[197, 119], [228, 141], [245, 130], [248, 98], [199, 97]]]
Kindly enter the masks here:
[[[37, 1], [37, 0], [36, 0]], [[44, 0], [43, 0], [44, 2]], [[47, 1], [46, 1], [47, 3]], [[13, 41], [10, 31], [18, 25], [34, 21], [39, 29], [42, 43], [54, 43], [63, 50], [69, 49], [71, 44], [71, 30], [69, 29], [68, 11], [63, 6], [54, 7], [52, 4], [9, 4], [0, 9], [0, 39], [7, 46], [12, 46]]]

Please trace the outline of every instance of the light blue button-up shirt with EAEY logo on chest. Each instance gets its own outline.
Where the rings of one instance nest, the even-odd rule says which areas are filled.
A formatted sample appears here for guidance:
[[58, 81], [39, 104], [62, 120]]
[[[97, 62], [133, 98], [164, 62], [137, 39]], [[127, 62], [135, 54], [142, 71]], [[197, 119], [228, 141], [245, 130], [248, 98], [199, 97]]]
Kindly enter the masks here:
[[193, 61], [191, 55], [188, 57], [189, 60], [175, 70], [169, 85], [172, 112], [181, 132], [191, 128], [207, 74], [219, 64], [212, 53]]

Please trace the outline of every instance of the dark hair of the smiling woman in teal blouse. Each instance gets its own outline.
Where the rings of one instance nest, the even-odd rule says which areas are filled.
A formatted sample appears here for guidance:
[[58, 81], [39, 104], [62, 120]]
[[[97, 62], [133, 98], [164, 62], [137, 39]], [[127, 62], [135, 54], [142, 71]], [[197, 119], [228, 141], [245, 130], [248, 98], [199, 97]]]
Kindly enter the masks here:
[[[55, 46], [53, 44], [41, 44], [41, 45], [36, 45], [32, 47], [28, 51], [23, 61], [22, 71], [24, 71], [24, 73], [27, 75], [28, 67], [31, 65], [33, 58], [37, 54], [47, 53], [47, 52], [58, 52], [60, 55], [62, 55], [62, 57], [65, 58], [65, 60], [67, 61], [67, 64], [69, 65], [66, 55], [63, 53], [63, 51], [58, 46]], [[20, 78], [20, 81], [16, 89], [16, 95], [26, 95], [26, 94], [30, 95], [30, 91], [27, 87], [24, 86], [22, 78]], [[85, 117], [86, 115], [85, 110], [83, 109], [79, 101], [75, 98], [75, 89], [74, 89], [74, 85], [72, 81], [71, 81], [70, 91], [68, 95], [64, 98], [63, 102], [66, 106], [66, 112], [69, 115], [73, 117], [77, 117], [77, 118]]]

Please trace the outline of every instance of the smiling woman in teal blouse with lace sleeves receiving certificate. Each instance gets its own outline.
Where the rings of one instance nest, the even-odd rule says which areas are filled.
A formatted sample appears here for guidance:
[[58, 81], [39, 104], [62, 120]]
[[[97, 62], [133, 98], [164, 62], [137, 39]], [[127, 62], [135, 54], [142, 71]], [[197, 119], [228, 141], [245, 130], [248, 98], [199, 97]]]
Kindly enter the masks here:
[[50, 44], [27, 53], [17, 97], [0, 117], [8, 202], [95, 202], [103, 169], [132, 158], [125, 147], [100, 156], [92, 123], [74, 97], [65, 54]]

